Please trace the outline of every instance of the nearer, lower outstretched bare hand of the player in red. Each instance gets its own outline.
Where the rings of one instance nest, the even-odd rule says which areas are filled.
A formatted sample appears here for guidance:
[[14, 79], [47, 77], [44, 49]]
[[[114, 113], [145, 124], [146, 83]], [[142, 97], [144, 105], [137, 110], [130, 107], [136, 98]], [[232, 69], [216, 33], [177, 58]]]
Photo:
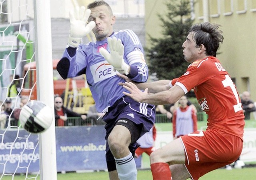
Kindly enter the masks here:
[[137, 102], [143, 102], [143, 99], [145, 96], [148, 95], [148, 88], [142, 92], [134, 83], [132, 82], [126, 82], [123, 85], [124, 88], [126, 88], [130, 93], [128, 92], [123, 92], [126, 96], [131, 97]]

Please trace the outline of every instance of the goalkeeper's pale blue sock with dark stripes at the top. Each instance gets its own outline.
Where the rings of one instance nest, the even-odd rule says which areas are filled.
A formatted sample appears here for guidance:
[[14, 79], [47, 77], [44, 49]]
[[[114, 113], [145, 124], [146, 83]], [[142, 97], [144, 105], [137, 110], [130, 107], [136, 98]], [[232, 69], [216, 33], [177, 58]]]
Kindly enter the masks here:
[[132, 153], [124, 158], [116, 159], [116, 170], [120, 180], [136, 180], [137, 169]]

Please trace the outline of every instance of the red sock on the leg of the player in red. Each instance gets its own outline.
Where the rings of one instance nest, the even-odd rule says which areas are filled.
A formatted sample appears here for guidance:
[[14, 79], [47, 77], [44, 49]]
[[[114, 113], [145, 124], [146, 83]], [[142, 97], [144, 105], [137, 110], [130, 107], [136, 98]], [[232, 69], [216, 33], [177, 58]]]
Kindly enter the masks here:
[[153, 180], [172, 180], [169, 164], [157, 162], [150, 165]]

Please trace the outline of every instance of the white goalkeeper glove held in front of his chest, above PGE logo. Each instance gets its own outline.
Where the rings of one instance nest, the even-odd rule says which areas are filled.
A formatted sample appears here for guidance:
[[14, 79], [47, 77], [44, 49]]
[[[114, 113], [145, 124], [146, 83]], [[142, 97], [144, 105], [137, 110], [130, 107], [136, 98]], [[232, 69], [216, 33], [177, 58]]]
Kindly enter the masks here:
[[129, 74], [130, 66], [124, 62], [124, 45], [120, 39], [116, 37], [108, 38], [108, 46], [110, 53], [104, 49], [100, 48], [100, 54], [111, 64], [115, 70], [121, 74]]

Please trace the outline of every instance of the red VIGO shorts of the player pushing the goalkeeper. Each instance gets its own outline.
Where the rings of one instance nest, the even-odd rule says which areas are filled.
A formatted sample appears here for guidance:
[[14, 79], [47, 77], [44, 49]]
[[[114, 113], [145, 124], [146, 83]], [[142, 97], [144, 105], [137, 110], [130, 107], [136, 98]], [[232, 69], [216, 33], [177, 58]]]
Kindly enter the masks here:
[[243, 141], [218, 130], [198, 131], [180, 137], [186, 155], [186, 168], [193, 180], [231, 164], [240, 156]]

